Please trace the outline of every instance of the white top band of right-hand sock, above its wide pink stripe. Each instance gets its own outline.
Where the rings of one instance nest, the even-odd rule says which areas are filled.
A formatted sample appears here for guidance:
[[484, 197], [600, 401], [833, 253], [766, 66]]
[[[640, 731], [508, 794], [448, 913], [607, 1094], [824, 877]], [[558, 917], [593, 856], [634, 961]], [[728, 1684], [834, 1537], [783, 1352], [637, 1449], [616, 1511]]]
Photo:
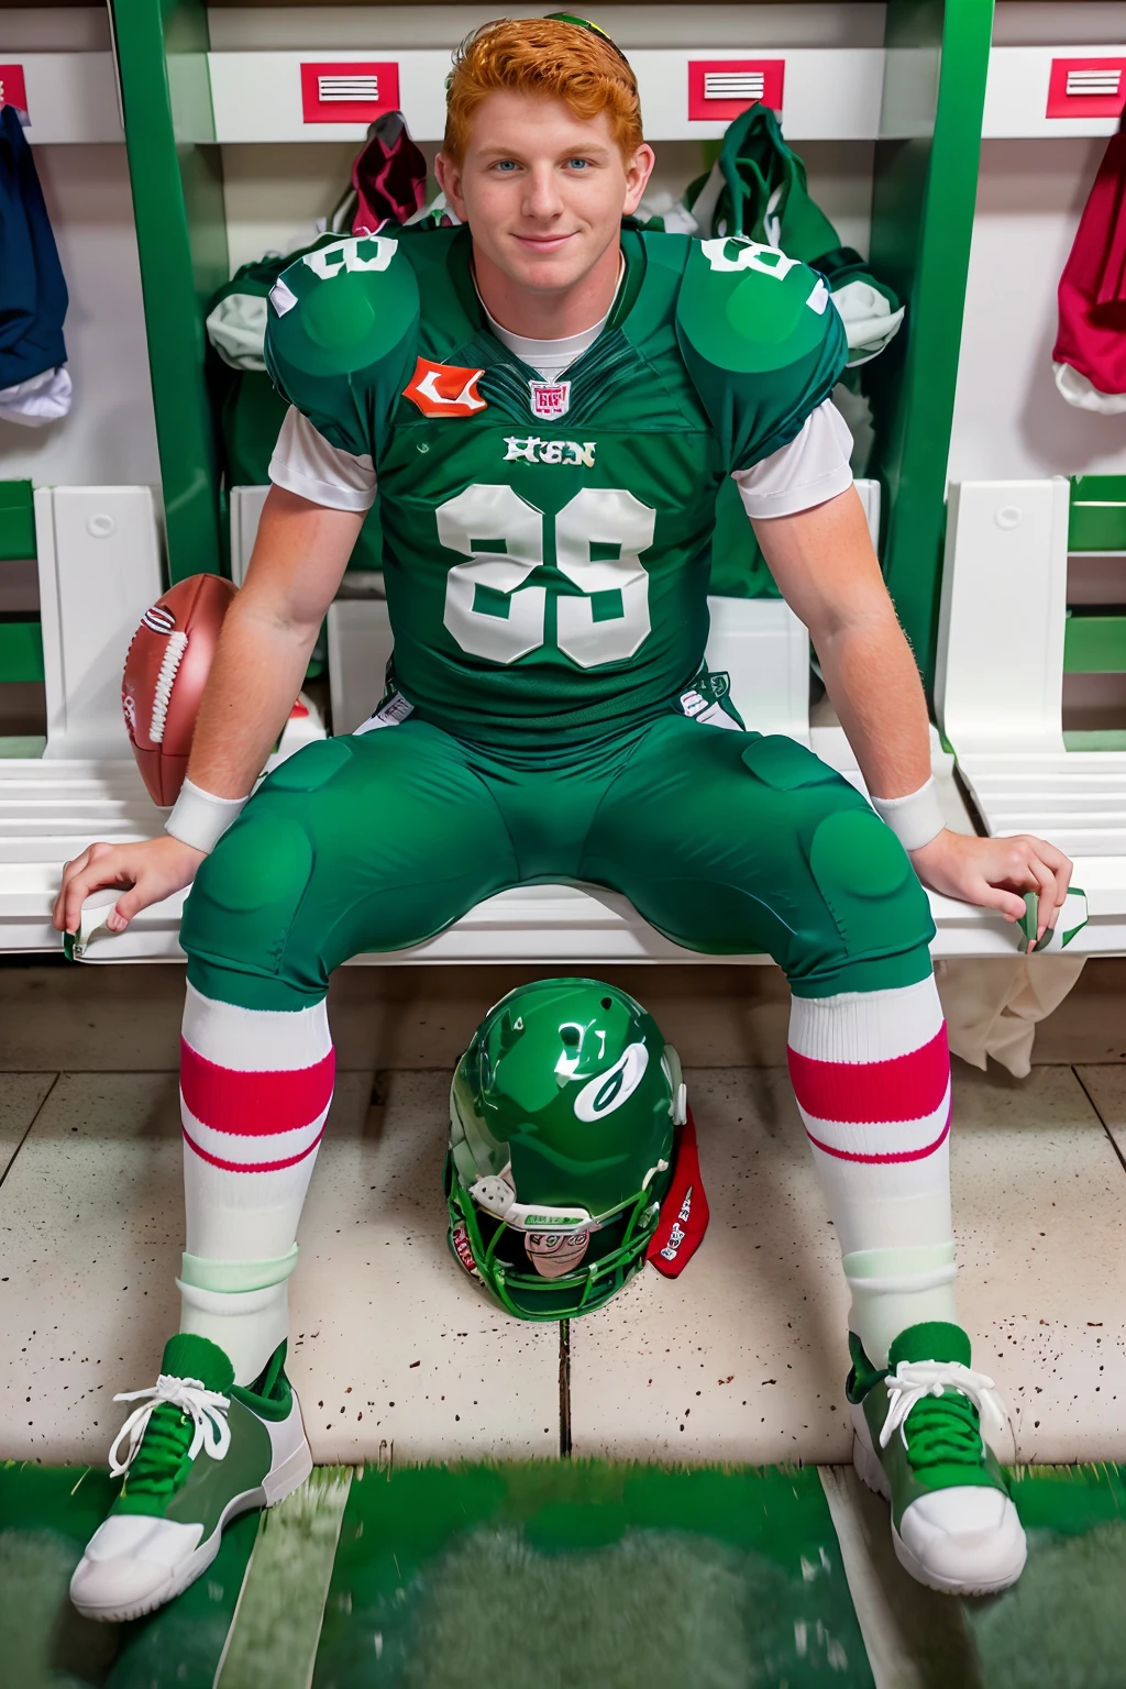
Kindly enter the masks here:
[[788, 1044], [814, 1061], [895, 1061], [930, 1044], [942, 1027], [934, 976], [890, 991], [795, 997]]

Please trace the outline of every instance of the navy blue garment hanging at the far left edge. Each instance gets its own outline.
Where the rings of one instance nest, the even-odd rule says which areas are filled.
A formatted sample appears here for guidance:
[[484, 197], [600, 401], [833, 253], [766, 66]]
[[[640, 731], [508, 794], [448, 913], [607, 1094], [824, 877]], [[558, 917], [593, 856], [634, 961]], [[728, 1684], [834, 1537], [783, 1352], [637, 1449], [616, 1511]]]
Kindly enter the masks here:
[[66, 280], [32, 150], [0, 106], [0, 390], [66, 363]]

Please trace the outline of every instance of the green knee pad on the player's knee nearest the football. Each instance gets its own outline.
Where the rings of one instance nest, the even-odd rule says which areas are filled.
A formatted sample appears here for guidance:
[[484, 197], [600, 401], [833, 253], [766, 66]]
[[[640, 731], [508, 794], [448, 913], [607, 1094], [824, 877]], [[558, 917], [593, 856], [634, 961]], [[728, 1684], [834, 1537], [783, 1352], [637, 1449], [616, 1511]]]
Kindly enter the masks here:
[[233, 963], [240, 971], [279, 973], [312, 861], [307, 829], [257, 801], [196, 875], [181, 924], [187, 954]]

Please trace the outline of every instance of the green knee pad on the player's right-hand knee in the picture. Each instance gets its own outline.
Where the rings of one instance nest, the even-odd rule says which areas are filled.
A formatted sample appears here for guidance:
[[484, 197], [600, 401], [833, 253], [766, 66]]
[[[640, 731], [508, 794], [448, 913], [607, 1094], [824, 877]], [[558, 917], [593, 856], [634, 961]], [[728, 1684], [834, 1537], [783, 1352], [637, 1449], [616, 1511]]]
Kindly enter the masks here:
[[837, 809], [814, 829], [809, 866], [849, 959], [925, 946], [930, 904], [895, 833], [871, 809]]

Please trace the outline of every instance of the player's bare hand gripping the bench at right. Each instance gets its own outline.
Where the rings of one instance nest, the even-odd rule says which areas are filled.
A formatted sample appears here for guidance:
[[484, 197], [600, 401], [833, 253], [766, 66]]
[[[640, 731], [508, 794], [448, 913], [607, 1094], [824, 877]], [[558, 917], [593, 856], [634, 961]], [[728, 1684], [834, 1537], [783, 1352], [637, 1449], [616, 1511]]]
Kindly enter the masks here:
[[979, 839], [945, 828], [930, 844], [910, 851], [910, 858], [932, 892], [981, 909], [999, 909], [1006, 921], [1020, 921], [1025, 892], [1037, 892], [1037, 937], [1028, 941], [1030, 951], [1055, 926], [1072, 878], [1064, 851], [1031, 833]]

